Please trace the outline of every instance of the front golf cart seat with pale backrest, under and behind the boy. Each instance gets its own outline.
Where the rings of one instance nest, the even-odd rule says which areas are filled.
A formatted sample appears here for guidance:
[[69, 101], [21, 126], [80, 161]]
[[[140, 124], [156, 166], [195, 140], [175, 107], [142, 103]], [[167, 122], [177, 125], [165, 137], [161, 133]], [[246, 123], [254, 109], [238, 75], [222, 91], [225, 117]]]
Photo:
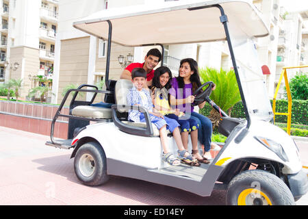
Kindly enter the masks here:
[[[126, 80], [126, 79], [120, 79], [116, 82], [115, 91], [116, 91], [116, 104], [117, 105], [127, 105], [126, 96], [127, 96], [127, 93], [129, 92], [129, 89], [131, 89], [132, 87], [133, 87], [133, 83], [131, 83], [131, 81]], [[118, 109], [118, 111], [120, 112], [120, 109]], [[121, 122], [124, 123], [125, 125], [129, 125], [133, 127], [146, 128], [146, 123], [134, 123], [131, 121], [121, 121]], [[151, 123], [151, 125], [153, 127], [153, 136], [159, 137], [159, 130], [153, 123]], [[170, 133], [170, 131], [168, 131], [168, 133]]]

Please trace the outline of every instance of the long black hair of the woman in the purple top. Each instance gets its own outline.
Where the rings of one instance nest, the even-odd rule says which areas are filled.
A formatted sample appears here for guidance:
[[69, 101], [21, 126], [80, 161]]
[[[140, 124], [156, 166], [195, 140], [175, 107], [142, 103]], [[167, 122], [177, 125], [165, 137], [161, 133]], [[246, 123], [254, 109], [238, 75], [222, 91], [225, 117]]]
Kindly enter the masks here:
[[[194, 72], [194, 74], [190, 76], [190, 81], [192, 82], [192, 92], [194, 92], [198, 87], [202, 85], [199, 77], [198, 62], [196, 62], [192, 58], [186, 58], [181, 60], [180, 67], [185, 62], [188, 62], [188, 64], [190, 65], [190, 69]], [[178, 76], [177, 83], [179, 84], [179, 88], [184, 88], [185, 83], [183, 77]]]

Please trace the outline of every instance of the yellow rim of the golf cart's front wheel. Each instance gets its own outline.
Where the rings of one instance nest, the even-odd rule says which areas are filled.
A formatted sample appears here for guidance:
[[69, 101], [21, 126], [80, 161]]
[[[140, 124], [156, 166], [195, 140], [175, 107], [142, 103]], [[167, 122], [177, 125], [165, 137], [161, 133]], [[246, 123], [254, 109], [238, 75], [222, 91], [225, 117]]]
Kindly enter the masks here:
[[264, 192], [246, 189], [238, 196], [238, 205], [272, 205], [272, 202]]

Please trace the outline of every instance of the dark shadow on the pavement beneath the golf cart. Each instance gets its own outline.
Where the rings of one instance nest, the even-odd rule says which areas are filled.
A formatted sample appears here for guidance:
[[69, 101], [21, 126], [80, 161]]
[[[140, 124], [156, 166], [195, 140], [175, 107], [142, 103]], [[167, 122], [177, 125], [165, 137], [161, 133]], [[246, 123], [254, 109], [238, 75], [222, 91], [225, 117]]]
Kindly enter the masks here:
[[[38, 167], [38, 170], [65, 177], [68, 181], [73, 182], [73, 185], [75, 183], [76, 185], [82, 185], [75, 175], [74, 162], [73, 159], [70, 159], [70, 155], [34, 159], [32, 162], [42, 165]], [[89, 189], [92, 188], [86, 187]], [[107, 183], [94, 188], [102, 192], [111, 192], [125, 199], [132, 199], [135, 203], [138, 201], [140, 205], [225, 205], [224, 191], [214, 190], [211, 196], [202, 197], [166, 185], [126, 177], [111, 176]], [[119, 205], [130, 204], [119, 203]]]

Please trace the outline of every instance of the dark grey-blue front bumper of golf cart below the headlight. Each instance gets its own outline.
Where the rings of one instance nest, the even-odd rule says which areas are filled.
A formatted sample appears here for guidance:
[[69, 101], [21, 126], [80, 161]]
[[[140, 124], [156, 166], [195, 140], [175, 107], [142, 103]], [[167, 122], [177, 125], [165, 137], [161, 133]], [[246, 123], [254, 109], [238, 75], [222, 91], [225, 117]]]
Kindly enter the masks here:
[[287, 175], [290, 190], [294, 198], [299, 198], [308, 191], [307, 173], [302, 169], [298, 173]]

